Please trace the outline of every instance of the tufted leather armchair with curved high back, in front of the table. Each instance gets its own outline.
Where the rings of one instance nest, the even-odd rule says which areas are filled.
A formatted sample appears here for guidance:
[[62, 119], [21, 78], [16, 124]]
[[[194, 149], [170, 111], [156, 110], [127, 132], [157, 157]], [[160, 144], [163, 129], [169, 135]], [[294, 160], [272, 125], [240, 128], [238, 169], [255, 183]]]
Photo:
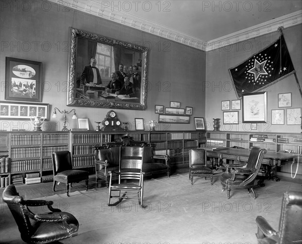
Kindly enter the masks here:
[[254, 182], [256, 176], [260, 170], [262, 159], [266, 153], [265, 149], [259, 147], [252, 148], [248, 162], [245, 166], [241, 164], [229, 164], [226, 166], [226, 171], [220, 177], [222, 191], [225, 187], [228, 190], [228, 199], [230, 199], [230, 192], [233, 188], [252, 190], [254, 197], [256, 193], [254, 191]]

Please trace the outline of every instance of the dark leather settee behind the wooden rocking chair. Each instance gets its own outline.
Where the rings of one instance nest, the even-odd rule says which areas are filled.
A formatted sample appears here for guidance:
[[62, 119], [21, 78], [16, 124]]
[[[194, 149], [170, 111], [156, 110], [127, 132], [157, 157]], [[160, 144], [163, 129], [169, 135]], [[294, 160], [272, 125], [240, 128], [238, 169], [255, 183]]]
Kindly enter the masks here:
[[[96, 184], [98, 181], [105, 181], [109, 186], [109, 171], [118, 171], [119, 168], [119, 147], [121, 145], [95, 146], [95, 167], [96, 167]], [[133, 145], [128, 145], [133, 147]], [[134, 147], [144, 147], [144, 157], [142, 171], [145, 177], [153, 177], [157, 174], [167, 174], [170, 177], [170, 165], [168, 155], [154, 155], [152, 145], [140, 145]], [[116, 178], [118, 178], [116, 176]]]

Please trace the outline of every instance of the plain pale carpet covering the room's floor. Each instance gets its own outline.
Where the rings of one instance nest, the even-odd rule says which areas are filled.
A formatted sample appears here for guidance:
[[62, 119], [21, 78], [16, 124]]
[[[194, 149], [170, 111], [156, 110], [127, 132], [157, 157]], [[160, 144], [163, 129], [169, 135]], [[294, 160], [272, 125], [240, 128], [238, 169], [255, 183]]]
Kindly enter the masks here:
[[[150, 179], [144, 181], [143, 208], [130, 199], [108, 207], [105, 187], [39, 199], [54, 201], [54, 207], [79, 220], [79, 235], [62, 243], [257, 243], [256, 217], [264, 216], [278, 230], [283, 192], [301, 190], [299, 184], [286, 181], [265, 183], [255, 187], [254, 200], [242, 189], [232, 190], [228, 199], [219, 175], [214, 175], [213, 185], [204, 178], [191, 185], [187, 173]], [[9, 243], [22, 243], [5, 204], [0, 226], [1, 243], [7, 243], [6, 235], [14, 229], [15, 241]]]

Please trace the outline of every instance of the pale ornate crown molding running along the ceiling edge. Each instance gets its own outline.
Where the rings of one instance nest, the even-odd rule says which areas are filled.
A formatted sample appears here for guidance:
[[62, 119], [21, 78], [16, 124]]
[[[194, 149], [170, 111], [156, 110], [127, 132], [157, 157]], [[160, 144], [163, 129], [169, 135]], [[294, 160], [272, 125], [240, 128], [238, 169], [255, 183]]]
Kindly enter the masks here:
[[[159, 25], [151, 21], [138, 18], [123, 11], [116, 11], [103, 3], [108, 1], [96, 0], [48, 0], [49, 2], [58, 4], [62, 8], [70, 8], [86, 14], [90, 14], [105, 20], [109, 20], [121, 25], [125, 25], [146, 33], [150, 33], [159, 37], [166, 38], [202, 51], [211, 51], [215, 49], [223, 49], [229, 45], [246, 41], [261, 35], [276, 32], [278, 27], [288, 28], [302, 23], [302, 11], [297, 11], [289, 15], [276, 18], [271, 21], [264, 22], [257, 26], [247, 28], [230, 35], [226, 35], [211, 41], [203, 41], [195, 37], [191, 37], [179, 31]], [[227, 49], [227, 48], [226, 48]], [[228, 49], [229, 50], [229, 49]]]

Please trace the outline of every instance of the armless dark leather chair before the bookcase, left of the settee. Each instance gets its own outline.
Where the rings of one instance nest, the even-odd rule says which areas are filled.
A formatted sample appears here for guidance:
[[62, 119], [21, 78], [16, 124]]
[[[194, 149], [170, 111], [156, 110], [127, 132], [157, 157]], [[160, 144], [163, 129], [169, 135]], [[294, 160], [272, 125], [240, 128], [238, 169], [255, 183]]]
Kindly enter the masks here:
[[58, 182], [66, 184], [66, 193], [69, 196], [69, 184], [79, 183], [82, 180], [86, 182], [86, 191], [88, 191], [89, 172], [85, 170], [72, 169], [71, 155], [69, 151], [59, 151], [52, 154], [53, 170], [53, 191]]

